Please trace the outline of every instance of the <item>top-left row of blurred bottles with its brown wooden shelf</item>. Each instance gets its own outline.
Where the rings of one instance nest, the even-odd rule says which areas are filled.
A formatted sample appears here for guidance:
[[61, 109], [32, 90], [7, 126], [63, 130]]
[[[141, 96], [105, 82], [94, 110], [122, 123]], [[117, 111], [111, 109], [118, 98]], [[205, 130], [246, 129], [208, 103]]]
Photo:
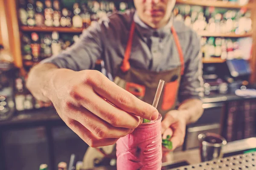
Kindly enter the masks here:
[[[133, 2], [96, 0], [19, 0], [22, 31], [81, 32], [108, 12], [133, 8]], [[68, 29], [70, 28], [70, 29]]]

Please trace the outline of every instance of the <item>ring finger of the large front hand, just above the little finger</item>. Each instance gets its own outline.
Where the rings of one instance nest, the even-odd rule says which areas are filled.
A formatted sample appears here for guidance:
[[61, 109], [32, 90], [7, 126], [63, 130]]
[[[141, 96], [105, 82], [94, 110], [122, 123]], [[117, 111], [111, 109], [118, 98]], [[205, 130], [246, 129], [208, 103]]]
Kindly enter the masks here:
[[93, 135], [99, 138], [120, 138], [132, 131], [127, 128], [113, 127], [82, 107], [70, 107], [70, 112], [68, 114], [71, 119], [81, 123], [85, 128], [90, 130]]

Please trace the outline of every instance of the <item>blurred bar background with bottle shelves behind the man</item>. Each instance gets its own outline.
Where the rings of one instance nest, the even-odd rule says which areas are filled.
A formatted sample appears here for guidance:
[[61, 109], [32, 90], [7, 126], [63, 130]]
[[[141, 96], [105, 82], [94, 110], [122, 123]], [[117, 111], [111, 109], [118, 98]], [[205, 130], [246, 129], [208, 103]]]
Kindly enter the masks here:
[[[79, 39], [91, 23], [132, 0], [0, 0], [0, 169], [56, 169], [72, 153], [82, 160], [84, 143], [53, 106], [26, 89], [27, 74], [42, 59]], [[176, 0], [176, 20], [201, 37], [205, 97], [203, 116], [187, 126], [179, 150], [197, 148], [198, 134], [227, 142], [256, 136], [256, 1]], [[104, 63], [96, 68], [104, 72]]]

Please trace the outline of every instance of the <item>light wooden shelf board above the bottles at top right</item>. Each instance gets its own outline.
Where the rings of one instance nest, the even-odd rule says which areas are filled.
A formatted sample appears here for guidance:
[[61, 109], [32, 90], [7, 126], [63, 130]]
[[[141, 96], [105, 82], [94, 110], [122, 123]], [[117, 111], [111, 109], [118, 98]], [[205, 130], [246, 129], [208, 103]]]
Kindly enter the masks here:
[[188, 4], [188, 5], [198, 5], [198, 6], [213, 6], [221, 8], [254, 8], [254, 5], [247, 4], [246, 6], [240, 6], [235, 2], [223, 2], [221, 0], [176, 0], [176, 3]]

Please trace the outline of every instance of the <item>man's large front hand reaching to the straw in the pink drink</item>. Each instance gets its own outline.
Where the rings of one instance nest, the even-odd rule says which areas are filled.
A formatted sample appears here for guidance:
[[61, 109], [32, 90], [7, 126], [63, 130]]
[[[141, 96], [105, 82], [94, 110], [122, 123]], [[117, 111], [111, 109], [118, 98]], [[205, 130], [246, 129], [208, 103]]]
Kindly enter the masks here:
[[114, 144], [158, 111], [99, 71], [55, 69], [44, 96], [63, 121], [91, 147]]

